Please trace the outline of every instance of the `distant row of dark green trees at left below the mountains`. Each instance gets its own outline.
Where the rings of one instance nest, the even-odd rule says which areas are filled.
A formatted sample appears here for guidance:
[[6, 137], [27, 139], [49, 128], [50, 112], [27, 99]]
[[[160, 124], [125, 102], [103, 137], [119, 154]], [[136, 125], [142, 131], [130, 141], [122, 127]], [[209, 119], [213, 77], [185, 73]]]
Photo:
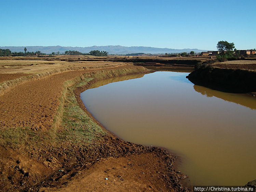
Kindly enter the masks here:
[[[41, 51], [36, 51], [36, 52], [27, 52], [27, 48], [24, 48], [24, 52], [11, 52], [9, 49], [0, 49], [0, 57], [3, 56], [13, 56], [13, 57], [17, 57], [17, 56], [42, 56], [42, 55], [46, 55], [45, 53], [41, 53]], [[93, 56], [108, 56], [108, 52], [106, 51], [98, 51], [98, 50], [93, 50], [90, 51], [89, 53], [81, 53], [79, 51], [65, 51], [65, 53], [60, 54], [59, 51], [58, 52], [52, 52], [51, 54], [49, 54], [49, 56], [52, 55], [93, 55]]]

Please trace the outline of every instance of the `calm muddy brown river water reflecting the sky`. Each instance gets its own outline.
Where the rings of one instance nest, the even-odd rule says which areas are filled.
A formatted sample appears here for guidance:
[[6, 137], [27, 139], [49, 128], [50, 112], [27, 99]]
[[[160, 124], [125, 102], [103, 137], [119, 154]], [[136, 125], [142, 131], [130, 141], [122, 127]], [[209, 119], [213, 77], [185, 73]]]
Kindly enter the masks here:
[[159, 71], [113, 78], [92, 85], [81, 99], [119, 138], [178, 155], [177, 170], [189, 176], [190, 185], [255, 180], [256, 98], [197, 86], [187, 75]]

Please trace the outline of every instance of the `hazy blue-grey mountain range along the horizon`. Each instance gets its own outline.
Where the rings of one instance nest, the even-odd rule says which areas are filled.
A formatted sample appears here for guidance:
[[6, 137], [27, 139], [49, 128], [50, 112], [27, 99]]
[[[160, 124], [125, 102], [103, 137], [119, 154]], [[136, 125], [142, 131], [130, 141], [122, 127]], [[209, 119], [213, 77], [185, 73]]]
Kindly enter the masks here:
[[145, 54], [165, 54], [165, 53], [201, 53], [209, 50], [199, 49], [169, 49], [169, 48], [156, 48], [156, 47], [144, 47], [144, 46], [132, 46], [125, 47], [120, 45], [108, 45], [108, 46], [91, 46], [91, 47], [63, 47], [63, 46], [4, 46], [0, 49], [9, 49], [11, 52], [24, 52], [24, 48], [27, 48], [28, 52], [41, 51], [42, 53], [50, 54], [52, 52], [64, 53], [65, 51], [79, 51], [82, 53], [89, 53], [93, 50], [106, 51], [109, 54], [130, 54], [130, 53], [145, 53]]

